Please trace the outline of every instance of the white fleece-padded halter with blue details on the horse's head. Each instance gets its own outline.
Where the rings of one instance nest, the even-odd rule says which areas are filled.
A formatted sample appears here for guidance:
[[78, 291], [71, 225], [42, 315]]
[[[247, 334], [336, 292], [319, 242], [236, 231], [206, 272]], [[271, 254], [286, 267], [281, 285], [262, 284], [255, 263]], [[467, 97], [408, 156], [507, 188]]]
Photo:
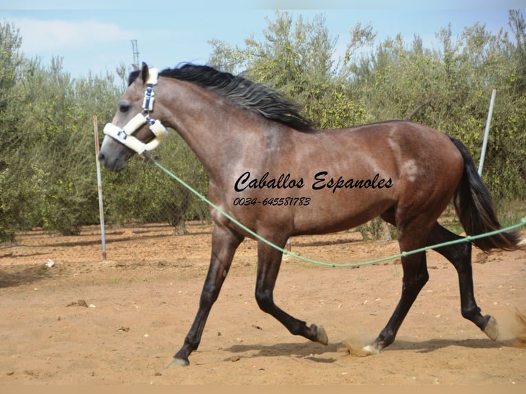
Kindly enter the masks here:
[[[153, 86], [157, 84], [158, 76], [158, 69], [150, 69], [148, 82], [146, 82], [146, 91], [144, 92], [144, 100], [142, 103], [143, 113], [138, 113], [135, 115], [135, 117], [130, 119], [130, 121], [128, 121], [128, 123], [123, 128], [115, 126], [115, 124], [112, 123], [108, 123], [106, 126], [104, 126], [105, 135], [108, 135], [117, 142], [122, 143], [124, 146], [127, 146], [131, 150], [137, 152], [139, 155], [157, 148], [159, 142], [168, 136], [168, 130], [166, 130], [163, 124], [161, 124], [161, 121], [152, 119], [152, 117], [150, 117], [150, 112], [153, 111], [153, 104], [155, 101]], [[153, 135], [155, 135], [155, 138], [148, 143], [144, 143], [133, 137], [133, 133], [147, 122], [150, 125], [150, 130], [152, 131]]]

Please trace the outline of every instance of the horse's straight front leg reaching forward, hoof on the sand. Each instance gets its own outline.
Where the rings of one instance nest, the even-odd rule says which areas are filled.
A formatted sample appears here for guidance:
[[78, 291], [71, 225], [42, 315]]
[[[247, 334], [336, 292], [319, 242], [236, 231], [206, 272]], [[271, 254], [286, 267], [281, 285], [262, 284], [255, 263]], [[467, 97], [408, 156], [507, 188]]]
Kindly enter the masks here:
[[238, 248], [242, 240], [243, 237], [241, 235], [231, 232], [229, 229], [220, 226], [220, 224], [214, 226], [210, 266], [205, 285], [201, 291], [201, 300], [199, 301], [196, 318], [185, 338], [183, 347], [179, 349], [167, 367], [173, 364], [184, 366], [190, 364], [188, 356], [197, 349], [201, 342], [201, 335], [203, 334], [211, 307], [218, 298], [222, 283], [227, 277], [233, 255], [236, 253], [236, 248]]

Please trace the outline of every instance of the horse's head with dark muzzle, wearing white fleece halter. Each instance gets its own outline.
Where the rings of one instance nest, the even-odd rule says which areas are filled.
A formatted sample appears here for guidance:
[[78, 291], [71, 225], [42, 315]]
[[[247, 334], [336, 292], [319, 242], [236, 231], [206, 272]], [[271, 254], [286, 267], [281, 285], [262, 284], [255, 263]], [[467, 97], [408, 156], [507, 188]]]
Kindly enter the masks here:
[[128, 89], [119, 102], [111, 123], [104, 126], [104, 141], [99, 160], [108, 170], [126, 168], [133, 154], [143, 154], [155, 148], [168, 132], [159, 120], [150, 117], [154, 107], [153, 87], [157, 84], [157, 70], [142, 69], [130, 74]]

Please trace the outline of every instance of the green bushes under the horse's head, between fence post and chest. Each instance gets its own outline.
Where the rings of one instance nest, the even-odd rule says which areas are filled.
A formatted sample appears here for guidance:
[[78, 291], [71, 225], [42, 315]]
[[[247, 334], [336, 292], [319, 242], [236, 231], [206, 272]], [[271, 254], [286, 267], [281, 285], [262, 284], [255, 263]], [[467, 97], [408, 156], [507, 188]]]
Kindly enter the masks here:
[[[194, 152], [176, 132], [161, 143], [160, 160], [185, 182], [206, 194], [208, 177]], [[185, 188], [150, 163], [138, 158], [128, 162], [126, 171], [103, 173], [104, 205], [108, 222], [168, 222], [176, 233], [185, 233], [186, 220], [204, 219], [208, 207]]]

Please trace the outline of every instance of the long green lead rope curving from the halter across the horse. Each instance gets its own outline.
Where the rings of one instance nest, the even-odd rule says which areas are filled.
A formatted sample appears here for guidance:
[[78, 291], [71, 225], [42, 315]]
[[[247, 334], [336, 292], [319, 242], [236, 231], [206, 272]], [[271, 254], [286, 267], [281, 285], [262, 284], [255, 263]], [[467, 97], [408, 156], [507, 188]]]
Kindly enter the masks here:
[[303, 260], [304, 262], [317, 264], [319, 266], [330, 266], [330, 267], [339, 267], [339, 268], [368, 266], [368, 265], [371, 265], [371, 264], [378, 264], [378, 263], [382, 263], [382, 262], [387, 262], [389, 260], [398, 259], [400, 257], [406, 257], [406, 256], [409, 256], [409, 255], [414, 255], [416, 253], [422, 253], [424, 251], [428, 251], [429, 249], [436, 249], [436, 248], [441, 248], [442, 246], [448, 246], [448, 245], [453, 245], [453, 244], [460, 244], [462, 242], [472, 242], [473, 240], [478, 240], [479, 238], [489, 237], [490, 235], [496, 235], [496, 234], [499, 234], [499, 233], [505, 233], [506, 231], [511, 231], [511, 230], [518, 229], [520, 227], [526, 226], [526, 217], [524, 217], [524, 218], [521, 219], [520, 222], [518, 222], [516, 224], [513, 224], [512, 226], [505, 227], [503, 229], [494, 230], [494, 231], [490, 231], [488, 233], [483, 233], [483, 234], [478, 234], [478, 235], [468, 235], [468, 236], [466, 236], [464, 238], [461, 238], [459, 240], [442, 242], [442, 244], [435, 244], [435, 245], [431, 245], [431, 246], [426, 246], [424, 248], [418, 248], [418, 249], [414, 249], [413, 251], [407, 251], [407, 252], [398, 253], [398, 255], [392, 255], [392, 256], [389, 256], [389, 257], [383, 257], [381, 259], [370, 260], [368, 262], [350, 263], [350, 264], [334, 264], [334, 263], [328, 263], [328, 262], [320, 262], [319, 260], [310, 259], [308, 257], [303, 257], [303, 256], [300, 256], [300, 255], [297, 255], [296, 253], [292, 253], [290, 251], [287, 251], [286, 249], [280, 248], [276, 244], [273, 244], [269, 240], [266, 240], [266, 238], [262, 237], [258, 233], [255, 233], [254, 231], [249, 229], [247, 226], [245, 226], [244, 224], [242, 224], [241, 222], [239, 222], [238, 220], [236, 220], [235, 218], [230, 216], [227, 212], [225, 212], [222, 209], [220, 209], [220, 207], [218, 207], [213, 202], [208, 200], [208, 198], [203, 196], [203, 194], [199, 193], [192, 186], [190, 186], [187, 183], [185, 183], [185, 181], [183, 181], [181, 178], [179, 178], [179, 176], [176, 176], [176, 174], [174, 174], [173, 172], [170, 172], [169, 170], [167, 170], [157, 160], [155, 160], [152, 157], [150, 157], [149, 154], [144, 153], [143, 155], [144, 155], [144, 157], [146, 159], [148, 159], [151, 163], [153, 163], [161, 171], [165, 172], [165, 174], [168, 174], [168, 176], [172, 177], [174, 180], [176, 180], [177, 182], [181, 183], [181, 185], [183, 185], [183, 187], [188, 189], [190, 192], [192, 192], [194, 195], [196, 195], [202, 201], [206, 202], [210, 207], [216, 209], [223, 216], [225, 216], [225, 218], [227, 218], [227, 219], [231, 220], [233, 223], [237, 224], [244, 231], [247, 231], [247, 233], [249, 233], [253, 237], [257, 238], [258, 240], [264, 242], [268, 246], [271, 246], [272, 248], [275, 248], [277, 251], [280, 251], [280, 252], [282, 252], [282, 253], [284, 253], [286, 255], [290, 255], [291, 257], [295, 257], [297, 259]]

